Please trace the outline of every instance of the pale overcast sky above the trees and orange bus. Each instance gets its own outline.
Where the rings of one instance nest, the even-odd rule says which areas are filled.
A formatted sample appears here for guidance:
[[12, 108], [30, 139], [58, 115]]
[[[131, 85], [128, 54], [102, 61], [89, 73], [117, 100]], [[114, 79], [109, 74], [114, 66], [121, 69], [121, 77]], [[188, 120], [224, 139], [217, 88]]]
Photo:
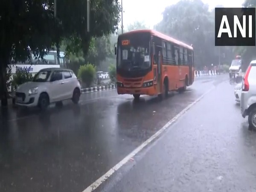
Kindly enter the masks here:
[[[123, 1], [123, 25], [124, 28], [134, 21], [144, 22], [153, 28], [162, 20], [162, 12], [167, 6], [177, 3], [179, 0], [122, 0]], [[244, 0], [202, 0], [213, 9], [216, 5], [224, 7], [241, 7]], [[119, 0], [121, 3], [121, 0]]]

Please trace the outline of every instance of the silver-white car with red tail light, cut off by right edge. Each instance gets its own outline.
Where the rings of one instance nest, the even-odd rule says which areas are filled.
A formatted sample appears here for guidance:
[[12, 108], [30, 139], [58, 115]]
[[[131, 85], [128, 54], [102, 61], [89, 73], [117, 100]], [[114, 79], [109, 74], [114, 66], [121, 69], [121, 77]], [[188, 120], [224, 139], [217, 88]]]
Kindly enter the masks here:
[[248, 116], [250, 128], [256, 129], [256, 60], [251, 61], [242, 83], [241, 114]]

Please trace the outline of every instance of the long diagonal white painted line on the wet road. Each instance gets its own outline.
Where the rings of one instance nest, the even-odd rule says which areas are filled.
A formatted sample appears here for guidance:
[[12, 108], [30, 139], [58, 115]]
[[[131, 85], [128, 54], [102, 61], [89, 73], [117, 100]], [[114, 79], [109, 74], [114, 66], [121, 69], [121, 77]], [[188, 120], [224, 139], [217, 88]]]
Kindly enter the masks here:
[[92, 192], [97, 187], [99, 187], [105, 180], [108, 179], [114, 172], [116, 172], [118, 169], [120, 169], [125, 163], [127, 163], [131, 158], [133, 158], [137, 153], [139, 153], [145, 146], [147, 146], [149, 143], [151, 143], [153, 140], [155, 140], [156, 137], [158, 137], [160, 134], [163, 133], [170, 125], [172, 125], [174, 122], [177, 121], [180, 116], [182, 116], [186, 111], [188, 111], [193, 105], [195, 105], [197, 102], [199, 102], [204, 96], [206, 96], [209, 92], [211, 92], [213, 89], [215, 89], [215, 86], [213, 86], [211, 89], [209, 89], [207, 92], [205, 92], [202, 96], [200, 96], [198, 99], [196, 99], [194, 102], [189, 104], [186, 108], [184, 108], [180, 113], [178, 113], [174, 118], [172, 118], [169, 122], [166, 123], [159, 131], [157, 131], [154, 135], [152, 135], [148, 140], [146, 140], [144, 143], [142, 143], [140, 146], [138, 146], [134, 151], [132, 151], [130, 154], [128, 154], [124, 159], [122, 159], [119, 163], [117, 163], [115, 166], [113, 166], [108, 172], [106, 172], [104, 175], [99, 177], [96, 181], [94, 181], [90, 186], [88, 186], [84, 191], [82, 192]]

